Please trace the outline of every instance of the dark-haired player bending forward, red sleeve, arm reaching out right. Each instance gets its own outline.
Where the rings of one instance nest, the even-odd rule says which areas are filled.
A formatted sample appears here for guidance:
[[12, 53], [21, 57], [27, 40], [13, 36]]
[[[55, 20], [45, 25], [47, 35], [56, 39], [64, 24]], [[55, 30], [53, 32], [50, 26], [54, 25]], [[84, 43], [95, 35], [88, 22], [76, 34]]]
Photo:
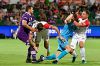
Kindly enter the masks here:
[[[37, 48], [39, 48], [39, 43], [41, 39], [44, 39], [44, 47], [47, 49], [47, 56], [49, 55], [49, 35], [48, 35], [48, 29], [54, 29], [58, 36], [60, 36], [60, 32], [56, 26], [50, 25], [45, 21], [36, 22], [33, 24], [33, 27], [37, 27], [38, 31], [36, 32], [36, 38], [35, 43]], [[35, 28], [34, 27], [34, 28]]]

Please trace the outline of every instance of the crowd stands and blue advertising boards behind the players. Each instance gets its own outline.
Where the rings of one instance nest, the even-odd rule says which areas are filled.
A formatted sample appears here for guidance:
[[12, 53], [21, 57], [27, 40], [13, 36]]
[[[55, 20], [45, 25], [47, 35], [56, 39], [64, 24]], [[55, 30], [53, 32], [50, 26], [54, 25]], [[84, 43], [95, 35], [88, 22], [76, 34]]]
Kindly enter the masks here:
[[[0, 35], [13, 37], [12, 34], [16, 31], [20, 17], [28, 4], [33, 6], [36, 20], [60, 26], [59, 29], [63, 26], [64, 19], [72, 11], [77, 8], [81, 11], [87, 9], [90, 12], [89, 20], [91, 22], [88, 36], [100, 36], [100, 32], [98, 32], [100, 31], [100, 0], [1, 0]], [[49, 32], [50, 36], [57, 36], [54, 30], [49, 30]]]

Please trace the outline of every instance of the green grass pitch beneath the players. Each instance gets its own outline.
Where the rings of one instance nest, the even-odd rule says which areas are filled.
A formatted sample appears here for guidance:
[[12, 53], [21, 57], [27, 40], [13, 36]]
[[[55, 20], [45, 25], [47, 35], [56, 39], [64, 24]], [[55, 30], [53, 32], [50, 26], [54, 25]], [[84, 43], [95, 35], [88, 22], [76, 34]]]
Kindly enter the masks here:
[[[51, 54], [55, 53], [57, 50], [57, 40], [51, 38], [49, 42]], [[0, 66], [100, 66], [100, 39], [87, 39], [85, 47], [87, 59], [86, 64], [81, 64], [78, 46], [78, 57], [75, 63], [71, 63], [72, 56], [68, 54], [61, 59], [58, 64], [52, 64], [52, 61], [43, 61], [39, 64], [27, 64], [25, 63], [27, 46], [25, 46], [23, 42], [15, 39], [0, 39]], [[39, 58], [39, 55], [41, 54], [46, 56], [45, 51], [43, 42], [41, 42], [37, 58]]]

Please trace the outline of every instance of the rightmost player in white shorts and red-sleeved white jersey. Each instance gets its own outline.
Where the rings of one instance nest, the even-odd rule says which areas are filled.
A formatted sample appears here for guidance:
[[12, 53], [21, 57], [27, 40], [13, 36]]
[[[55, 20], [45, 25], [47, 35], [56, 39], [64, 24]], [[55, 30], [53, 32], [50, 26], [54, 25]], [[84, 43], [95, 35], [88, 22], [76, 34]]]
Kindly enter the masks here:
[[[78, 14], [77, 14], [78, 15]], [[90, 25], [90, 21], [88, 20], [88, 15], [89, 12], [87, 10], [84, 10], [81, 14], [81, 16], [78, 15], [78, 20], [74, 21], [74, 24], [78, 27], [76, 31], [74, 31], [73, 37], [72, 37], [72, 42], [70, 44], [72, 49], [76, 48], [76, 44], [79, 44], [80, 47], [80, 54], [82, 58], [82, 63], [86, 63], [85, 59], [85, 40], [86, 40], [86, 30]], [[74, 51], [74, 55], [76, 52]], [[73, 56], [72, 62], [75, 62], [76, 55]]]

